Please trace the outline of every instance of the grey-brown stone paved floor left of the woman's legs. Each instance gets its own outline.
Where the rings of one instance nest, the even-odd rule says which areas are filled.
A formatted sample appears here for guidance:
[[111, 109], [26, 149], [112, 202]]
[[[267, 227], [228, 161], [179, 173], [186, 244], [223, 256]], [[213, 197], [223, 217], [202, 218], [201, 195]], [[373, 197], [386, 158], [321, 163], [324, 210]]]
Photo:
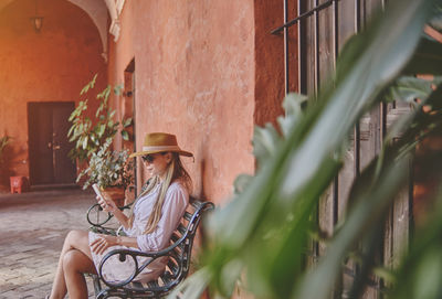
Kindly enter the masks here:
[[0, 299], [49, 293], [64, 236], [87, 229], [85, 214], [94, 202], [80, 189], [0, 192]]

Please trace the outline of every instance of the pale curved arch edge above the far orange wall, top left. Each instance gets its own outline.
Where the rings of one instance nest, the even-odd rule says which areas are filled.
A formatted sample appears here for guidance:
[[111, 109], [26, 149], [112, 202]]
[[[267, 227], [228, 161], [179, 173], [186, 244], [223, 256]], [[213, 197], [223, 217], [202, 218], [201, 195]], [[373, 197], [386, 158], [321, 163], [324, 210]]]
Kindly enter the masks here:
[[[15, 0], [0, 0], [0, 11]], [[103, 57], [107, 60], [107, 7], [104, 0], [66, 0], [86, 12], [96, 25], [103, 44]]]

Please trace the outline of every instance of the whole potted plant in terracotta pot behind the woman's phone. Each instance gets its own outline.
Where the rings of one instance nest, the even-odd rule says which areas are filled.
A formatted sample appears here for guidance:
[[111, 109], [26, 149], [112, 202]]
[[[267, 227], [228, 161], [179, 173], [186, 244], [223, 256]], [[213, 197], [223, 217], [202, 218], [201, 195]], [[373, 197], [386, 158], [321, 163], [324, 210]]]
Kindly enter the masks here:
[[[95, 87], [97, 75], [82, 89], [81, 96], [86, 95]], [[99, 105], [95, 111], [95, 119], [91, 119], [88, 99], [81, 100], [71, 114], [71, 129], [67, 134], [71, 142], [75, 142], [70, 157], [83, 162], [83, 170], [77, 175], [76, 182], [83, 184], [83, 189], [96, 183], [104, 194], [113, 199], [117, 205], [123, 205], [125, 189], [133, 182], [133, 163], [128, 159], [128, 151], [112, 150], [112, 143], [119, 131], [124, 140], [129, 140], [126, 130], [131, 126], [131, 118], [115, 119], [116, 110], [108, 104], [110, 92], [119, 95], [122, 87], [108, 85], [96, 95]]]

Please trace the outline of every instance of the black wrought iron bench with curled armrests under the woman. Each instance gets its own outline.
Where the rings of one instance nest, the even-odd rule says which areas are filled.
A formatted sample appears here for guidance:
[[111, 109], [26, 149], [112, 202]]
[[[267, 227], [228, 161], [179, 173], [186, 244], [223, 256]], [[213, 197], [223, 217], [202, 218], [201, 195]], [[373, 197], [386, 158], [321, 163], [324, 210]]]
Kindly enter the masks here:
[[[169, 293], [179, 282], [181, 282], [189, 273], [190, 257], [192, 252], [193, 238], [197, 233], [198, 225], [201, 216], [206, 211], [214, 207], [211, 202], [201, 202], [193, 197], [190, 199], [188, 211], [185, 213], [181, 223], [173, 232], [170, 246], [150, 253], [141, 253], [130, 249], [115, 249], [108, 253], [102, 260], [98, 275], [92, 275], [94, 281], [95, 296], [97, 299], [117, 297], [117, 298], [161, 298]], [[127, 209], [126, 205], [123, 209]], [[94, 222], [92, 214], [97, 216], [103, 212], [98, 204], [93, 205], [87, 212], [87, 221], [92, 224], [91, 229], [105, 233], [117, 234], [112, 227], [106, 227], [105, 224], [109, 222], [112, 215], [106, 213], [107, 216], [103, 221]], [[102, 213], [102, 214], [103, 214]], [[122, 281], [106, 281], [103, 276], [103, 267], [110, 256], [117, 255], [119, 260], [125, 261], [127, 258], [134, 260], [134, 271], [127, 279]], [[150, 257], [144, 264], [139, 264], [136, 257]], [[168, 257], [168, 263], [165, 271], [158, 279], [148, 282], [134, 281], [136, 276], [147, 267], [151, 261], [160, 258]]]

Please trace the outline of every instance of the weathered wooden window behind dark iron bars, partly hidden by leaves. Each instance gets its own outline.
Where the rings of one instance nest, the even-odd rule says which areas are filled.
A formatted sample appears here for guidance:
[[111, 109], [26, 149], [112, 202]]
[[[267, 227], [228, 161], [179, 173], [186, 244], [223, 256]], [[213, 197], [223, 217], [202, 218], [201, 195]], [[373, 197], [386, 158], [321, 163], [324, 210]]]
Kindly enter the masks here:
[[[386, 6], [386, 0], [281, 1], [284, 4], [282, 24], [274, 29], [272, 34], [284, 39], [285, 93], [297, 92], [306, 95], [315, 95], [318, 92], [322, 84], [333, 74], [345, 42], [367, 25], [376, 10]], [[330, 186], [330, 192], [322, 199], [319, 205], [323, 206], [318, 207], [317, 221], [323, 231], [333, 233], [336, 223], [343, 216], [354, 178], [359, 175], [370, 158], [379, 153], [390, 119], [408, 110], [409, 106], [406, 104], [381, 104], [355, 126], [345, 167]], [[406, 193], [402, 202], [397, 205], [411, 215], [411, 182]], [[397, 223], [394, 210], [396, 207], [386, 223], [385, 241], [379, 248], [379, 260], [383, 264], [392, 264], [394, 243], [398, 242], [392, 232], [399, 231], [408, 235], [412, 226], [412, 217], [406, 224]], [[315, 263], [323, 254], [325, 245], [314, 243], [309, 263]], [[352, 279], [356, 271], [358, 268], [355, 264], [348, 263], [345, 266], [340, 288], [337, 288], [335, 293], [337, 298], [346, 297], [346, 279]], [[372, 277], [369, 285], [365, 298], [380, 298], [382, 281]]]

